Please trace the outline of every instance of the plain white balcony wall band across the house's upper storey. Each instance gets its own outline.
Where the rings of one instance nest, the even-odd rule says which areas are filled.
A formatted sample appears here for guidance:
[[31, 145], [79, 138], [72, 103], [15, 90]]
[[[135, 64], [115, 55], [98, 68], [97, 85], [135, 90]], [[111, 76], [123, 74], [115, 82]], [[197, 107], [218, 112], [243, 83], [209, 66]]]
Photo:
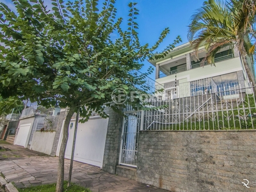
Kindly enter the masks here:
[[[220, 61], [214, 65], [206, 65], [204, 67], [193, 68], [177, 74], [177, 80], [182, 79], [182, 83], [204, 79], [208, 77], [220, 76], [232, 72], [243, 70], [240, 58], [232, 58], [230, 60]], [[163, 84], [175, 81], [175, 75], [156, 79], [157, 83]]]

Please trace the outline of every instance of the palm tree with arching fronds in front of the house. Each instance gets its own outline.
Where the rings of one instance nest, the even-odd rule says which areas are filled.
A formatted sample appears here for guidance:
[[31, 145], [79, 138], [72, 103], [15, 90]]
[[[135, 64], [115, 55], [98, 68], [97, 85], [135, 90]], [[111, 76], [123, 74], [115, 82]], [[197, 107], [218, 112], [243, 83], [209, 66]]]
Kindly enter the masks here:
[[191, 16], [188, 31], [188, 40], [196, 54], [205, 45], [207, 54], [202, 62], [214, 64], [216, 52], [228, 45], [235, 47], [253, 86], [255, 79], [245, 56], [255, 52], [255, 3], [256, 0], [205, 1]]

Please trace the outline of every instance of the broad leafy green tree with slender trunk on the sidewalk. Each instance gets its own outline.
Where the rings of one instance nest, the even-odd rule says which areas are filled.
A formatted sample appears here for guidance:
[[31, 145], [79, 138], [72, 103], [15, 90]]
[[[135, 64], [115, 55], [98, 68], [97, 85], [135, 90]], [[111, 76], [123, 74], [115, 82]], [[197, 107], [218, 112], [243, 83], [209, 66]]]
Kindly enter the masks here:
[[[47, 10], [42, 0], [17, 0], [15, 12], [0, 3], [0, 93], [3, 98], [29, 98], [42, 106], [68, 108], [58, 163], [56, 191], [63, 191], [64, 154], [68, 125], [79, 110], [84, 121], [92, 111], [106, 117], [105, 107], [118, 111], [111, 93], [116, 88], [135, 91], [136, 84], [147, 92], [143, 76], [132, 76], [146, 58], [157, 59], [180, 41], [179, 36], [161, 54], [153, 52], [169, 33], [164, 29], [156, 44], [141, 45], [138, 38], [139, 14], [129, 3], [127, 30], [116, 19], [114, 0], [52, 0]], [[113, 39], [115, 33], [118, 38]], [[147, 73], [151, 73], [152, 68]], [[146, 74], [147, 74], [146, 73]], [[129, 102], [129, 101], [128, 101]], [[140, 102], [130, 102], [141, 108]]]

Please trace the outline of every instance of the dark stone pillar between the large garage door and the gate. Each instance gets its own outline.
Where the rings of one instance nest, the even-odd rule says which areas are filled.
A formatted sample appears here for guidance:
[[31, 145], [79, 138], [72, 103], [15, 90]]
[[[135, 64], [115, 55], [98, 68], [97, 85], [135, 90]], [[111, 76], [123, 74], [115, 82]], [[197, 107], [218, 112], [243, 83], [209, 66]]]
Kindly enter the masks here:
[[106, 110], [106, 113], [109, 114], [109, 120], [102, 170], [115, 174], [120, 154], [123, 116], [112, 109]]

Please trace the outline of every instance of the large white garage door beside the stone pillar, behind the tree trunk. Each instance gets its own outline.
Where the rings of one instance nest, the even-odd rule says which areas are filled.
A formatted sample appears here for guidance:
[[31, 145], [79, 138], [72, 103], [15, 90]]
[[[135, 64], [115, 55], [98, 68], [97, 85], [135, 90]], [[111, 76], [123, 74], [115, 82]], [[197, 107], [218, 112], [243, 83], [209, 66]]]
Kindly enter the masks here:
[[[75, 120], [72, 120], [68, 129], [67, 159], [71, 157], [74, 129]], [[79, 123], [74, 160], [102, 167], [107, 129], [108, 118], [92, 117], [84, 124]]]

